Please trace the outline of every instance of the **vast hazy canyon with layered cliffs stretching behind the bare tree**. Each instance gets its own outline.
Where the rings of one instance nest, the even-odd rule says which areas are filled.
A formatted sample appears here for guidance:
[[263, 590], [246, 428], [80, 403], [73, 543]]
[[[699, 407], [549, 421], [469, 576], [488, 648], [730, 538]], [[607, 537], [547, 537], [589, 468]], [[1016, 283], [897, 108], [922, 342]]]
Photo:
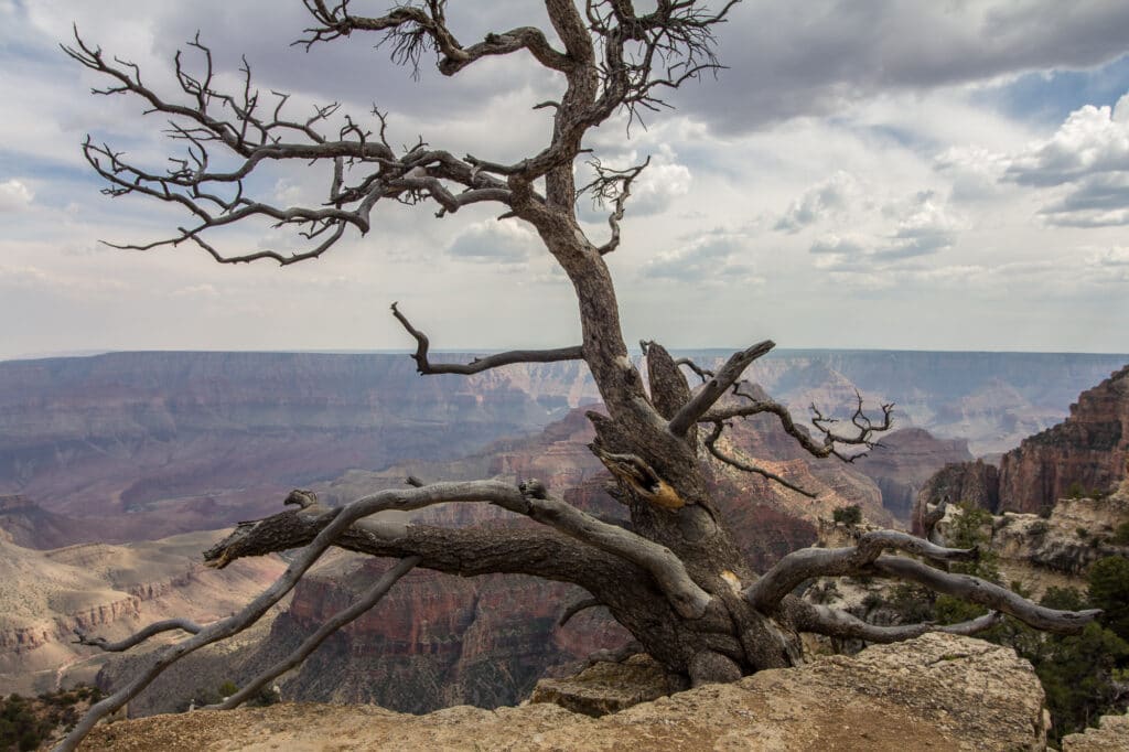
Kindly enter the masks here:
[[[709, 367], [724, 353], [692, 355]], [[710, 482], [744, 553], [764, 568], [811, 544], [820, 519], [842, 506], [857, 504], [868, 519], [883, 525], [904, 523], [911, 499], [937, 469], [966, 462], [978, 452], [1009, 448], [1008, 441], [1026, 427], [1045, 429], [1066, 414], [1078, 391], [1124, 360], [773, 352], [754, 364], [749, 376], [790, 405], [797, 418], [811, 403], [824, 410], [834, 405], [838, 414], [849, 417], [857, 385], [863, 385], [859, 392], [869, 405], [899, 404], [896, 430], [870, 456], [844, 464], [814, 461], [774, 418], [737, 421], [723, 439], [729, 454], [817, 496], [808, 499], [717, 463]], [[969, 370], [974, 368], [981, 370]], [[1082, 379], [1088, 381], [1075, 386]], [[994, 394], [1007, 399], [989, 404]], [[511, 367], [474, 378], [421, 378], [402, 355], [114, 353], [0, 362], [0, 492], [7, 495], [0, 498], [0, 550], [27, 562], [37, 562], [36, 557], [67, 560], [72, 554], [59, 551], [76, 543], [149, 545], [139, 541], [181, 534], [175, 543], [152, 544], [183, 552], [181, 574], [169, 577], [143, 565], [146, 574], [134, 576], [133, 591], [158, 594], [150, 598], [154, 605], [131, 602], [123, 611], [114, 606], [122, 597], [113, 587], [86, 583], [89, 593], [105, 596], [99, 607], [108, 617], [96, 631], [116, 637], [131, 624], [164, 618], [158, 602], [172, 596], [163, 588], [198, 579], [192, 560], [199, 560], [207, 543], [190, 551], [186, 541], [194, 539], [182, 541], [183, 534], [271, 514], [295, 486], [340, 505], [401, 486], [409, 474], [425, 480], [536, 478], [577, 506], [622, 517], [603, 490], [603, 465], [586, 447], [593, 434], [584, 410], [598, 410], [597, 399], [576, 364]], [[960, 430], [966, 432], [955, 434]], [[483, 505], [404, 517], [515, 524]], [[138, 698], [131, 712], [178, 709], [200, 688], [254, 675], [385, 567], [357, 557], [330, 558], [254, 633], [230, 648], [185, 661]], [[207, 589], [183, 597], [211, 598], [222, 604], [218, 614], [250, 597], [251, 585], [266, 582], [266, 570], [240, 582], [228, 588], [227, 600]], [[137, 592], [126, 588], [125, 595], [141, 597]], [[568, 672], [593, 650], [625, 641], [625, 632], [599, 610], [563, 628], [557, 624], [563, 609], [581, 595], [530, 578], [464, 580], [412, 572], [378, 609], [291, 672], [282, 682], [283, 696], [375, 701], [411, 712], [453, 703], [514, 703], [540, 676]], [[129, 656], [68, 668], [72, 654], [81, 650], [67, 642], [69, 629], [90, 604], [69, 611], [60, 611], [59, 603], [40, 605], [50, 628], [41, 629], [34, 646], [9, 638], [9, 676], [34, 675], [42, 683], [49, 664], [58, 670], [50, 675], [55, 682], [89, 677], [94, 668], [103, 685], [129, 675], [135, 661]], [[200, 619], [210, 613], [189, 612]], [[9, 636], [20, 629], [8, 627], [0, 624]], [[79, 657], [86, 656], [88, 650]]]

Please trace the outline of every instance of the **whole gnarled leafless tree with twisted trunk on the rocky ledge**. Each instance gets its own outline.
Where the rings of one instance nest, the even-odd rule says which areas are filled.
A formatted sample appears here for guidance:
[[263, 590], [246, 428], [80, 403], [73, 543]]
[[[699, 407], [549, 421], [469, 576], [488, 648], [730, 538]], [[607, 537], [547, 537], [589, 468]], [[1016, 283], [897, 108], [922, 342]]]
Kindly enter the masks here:
[[[445, 76], [457, 76], [488, 56], [511, 54], [522, 54], [530, 64], [552, 71], [562, 90], [557, 100], [537, 105], [551, 113], [544, 148], [504, 163], [491, 160], [484, 151], [456, 157], [422, 141], [396, 149], [385, 138], [379, 113], [380, 128], [375, 133], [349, 117], [335, 120], [340, 117], [335, 106], [318, 110], [307, 120], [291, 120], [286, 97], [268, 104], [266, 96], [252, 85], [247, 67], [239, 90], [220, 90], [210, 53], [199, 42], [191, 46], [202, 53], [202, 70], [190, 72], [177, 55], [175, 72], [181, 90], [166, 97], [142, 82], [135, 65], [107, 56], [76, 35], [76, 45], [67, 52], [105, 75], [111, 82], [100, 93], [135, 95], [147, 111], [170, 120], [170, 137], [186, 147], [172, 168], [151, 172], [87, 139], [86, 157], [108, 181], [108, 193], [148, 195], [178, 204], [190, 216], [172, 237], [132, 247], [191, 243], [220, 263], [272, 260], [286, 265], [322, 255], [349, 231], [367, 234], [378, 202], [434, 203], [439, 216], [454, 215], [472, 203], [497, 206], [506, 221], [532, 228], [545, 253], [568, 276], [576, 291], [583, 341], [557, 350], [491, 355], [466, 365], [436, 364], [429, 359], [427, 336], [395, 305], [392, 314], [415, 340], [414, 359], [421, 374], [469, 375], [507, 364], [584, 360], [606, 409], [606, 414], [589, 413], [596, 430], [592, 451], [612, 473], [616, 496], [630, 511], [630, 526], [604, 523], [536, 482], [518, 487], [489, 480], [422, 483], [409, 479], [404, 489], [380, 491], [338, 509], [320, 505], [308, 492], [295, 491], [286, 502], [297, 509], [242, 524], [204, 554], [212, 566], [224, 567], [240, 557], [301, 549], [286, 574], [243, 611], [204, 627], [183, 620], [161, 622], [117, 644], [82, 638], [105, 649], [125, 649], [164, 630], [182, 629], [191, 635], [156, 654], [139, 676], [96, 705], [64, 749], [72, 747], [98, 718], [122, 706], [173, 662], [252, 624], [331, 545], [399, 559], [399, 563], [290, 658], [236, 692], [222, 707], [254, 697], [325, 636], [371, 607], [412, 567], [461, 576], [519, 572], [578, 585], [590, 594], [590, 603], [606, 606], [647, 653], [695, 684], [794, 665], [803, 656], [800, 632], [889, 642], [936, 629], [931, 624], [876, 627], [793, 595], [813, 577], [909, 580], [996, 610], [943, 628], [959, 633], [992, 624], [998, 612], [1061, 632], [1076, 632], [1093, 619], [1093, 612], [1041, 607], [974, 577], [886, 553], [901, 551], [939, 562], [975, 557], [975, 550], [944, 549], [904, 533], [869, 532], [851, 548], [796, 551], [763, 574], [754, 571], [738, 553], [710, 497], [706, 453], [773, 481], [787, 481], [727, 455], [718, 446], [730, 421], [770, 413], [815, 457], [847, 460], [851, 447], [873, 446], [875, 434], [890, 427], [892, 406], [883, 405], [882, 420], [873, 423], [860, 403], [846, 432], [837, 431], [833, 421], [816, 413], [813, 438], [793, 422], [782, 405], [741, 390], [742, 374], [773, 347], [771, 341], [734, 353], [716, 373], [685, 364], [702, 378], [697, 390], [691, 390], [680, 369], [683, 364], [662, 346], [646, 343], [645, 381], [623, 341], [604, 256], [620, 244], [620, 221], [646, 163], [618, 170], [590, 160], [594, 180], [584, 186], [577, 185], [574, 173], [577, 160], [587, 158], [583, 142], [590, 129], [623, 110], [631, 116], [657, 110], [665, 89], [717, 68], [712, 30], [725, 20], [735, 0], [657, 0], [646, 14], [638, 12], [630, 0], [545, 0], [559, 41], [542, 29], [524, 26], [487, 34], [470, 45], [462, 44], [448, 27], [444, 0], [397, 5], [383, 16], [355, 15], [349, 0], [304, 1], [314, 19], [300, 41], [307, 49], [355, 34], [377, 33], [391, 45], [395, 62], [418, 65], [434, 53]], [[331, 122], [336, 125], [331, 126]], [[491, 146], [484, 143], [483, 148]], [[324, 202], [285, 207], [256, 198], [255, 170], [281, 160], [324, 167], [329, 176]], [[224, 168], [217, 167], [221, 164]], [[577, 220], [577, 202], [586, 194], [609, 209], [610, 234], [602, 243], [589, 238]], [[225, 255], [209, 239], [217, 228], [254, 218], [292, 229], [307, 245], [296, 252]], [[441, 502], [493, 504], [540, 525], [453, 530], [371, 517], [385, 509], [419, 509]]]

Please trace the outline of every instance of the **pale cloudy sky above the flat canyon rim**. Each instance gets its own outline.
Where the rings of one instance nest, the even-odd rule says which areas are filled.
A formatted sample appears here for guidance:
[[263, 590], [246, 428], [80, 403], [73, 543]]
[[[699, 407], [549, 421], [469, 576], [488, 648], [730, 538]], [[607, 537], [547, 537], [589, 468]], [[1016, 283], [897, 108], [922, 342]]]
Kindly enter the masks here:
[[[452, 0], [464, 43], [548, 28], [532, 0]], [[644, 2], [637, 3], [640, 8]], [[382, 14], [387, 1], [355, 0]], [[172, 96], [193, 38], [218, 80], [291, 93], [291, 113], [339, 102], [388, 138], [510, 160], [540, 149], [560, 81], [523, 54], [418, 80], [376, 36], [291, 46], [298, 0], [0, 0], [0, 359], [95, 350], [373, 350], [579, 342], [567, 279], [516, 220], [469, 207], [377, 207], [373, 229], [316, 261], [227, 266], [166, 237], [183, 213], [102, 194], [87, 133], [163, 169], [178, 147], [137, 100], [99, 97], [59, 44], [71, 26]], [[745, 1], [719, 29], [727, 65], [672, 111], [585, 146], [648, 156], [606, 256], [628, 342], [737, 348], [1129, 352], [1129, 3], [1105, 0]], [[189, 64], [199, 63], [185, 52]], [[317, 202], [318, 166], [253, 189]], [[581, 203], [597, 243], [604, 215]], [[236, 254], [289, 242], [225, 235]]]

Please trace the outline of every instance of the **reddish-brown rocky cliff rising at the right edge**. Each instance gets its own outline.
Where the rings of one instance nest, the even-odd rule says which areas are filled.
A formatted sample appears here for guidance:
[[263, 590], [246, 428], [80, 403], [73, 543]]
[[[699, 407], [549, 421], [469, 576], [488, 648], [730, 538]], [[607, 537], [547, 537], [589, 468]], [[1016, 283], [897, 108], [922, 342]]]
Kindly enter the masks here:
[[1129, 458], [1129, 366], [1083, 392], [1070, 416], [1004, 455], [1000, 510], [1039, 513], [1074, 489], [1108, 492]]

